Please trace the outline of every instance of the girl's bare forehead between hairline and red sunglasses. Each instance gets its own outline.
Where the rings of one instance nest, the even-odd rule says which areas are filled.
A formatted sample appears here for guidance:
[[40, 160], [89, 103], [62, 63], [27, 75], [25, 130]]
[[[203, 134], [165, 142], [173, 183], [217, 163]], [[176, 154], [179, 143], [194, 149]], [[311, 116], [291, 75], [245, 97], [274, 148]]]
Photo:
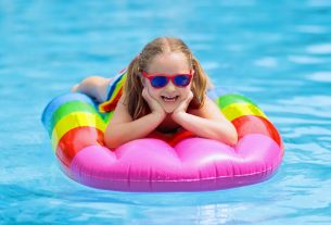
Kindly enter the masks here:
[[165, 52], [152, 58], [148, 65], [149, 73], [179, 73], [190, 70], [187, 57], [182, 52]]

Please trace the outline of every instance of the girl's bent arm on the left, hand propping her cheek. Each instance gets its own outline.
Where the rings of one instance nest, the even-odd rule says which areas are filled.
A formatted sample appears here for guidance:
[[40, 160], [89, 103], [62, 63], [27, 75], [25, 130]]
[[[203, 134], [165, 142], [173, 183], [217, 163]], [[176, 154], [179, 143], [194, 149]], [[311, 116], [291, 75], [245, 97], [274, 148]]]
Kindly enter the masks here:
[[120, 97], [115, 109], [113, 118], [104, 133], [105, 145], [113, 149], [138, 138], [145, 137], [164, 121], [166, 113], [163, 108], [144, 89], [142, 96], [148, 102], [152, 113], [132, 121], [128, 108], [124, 104], [125, 97]]

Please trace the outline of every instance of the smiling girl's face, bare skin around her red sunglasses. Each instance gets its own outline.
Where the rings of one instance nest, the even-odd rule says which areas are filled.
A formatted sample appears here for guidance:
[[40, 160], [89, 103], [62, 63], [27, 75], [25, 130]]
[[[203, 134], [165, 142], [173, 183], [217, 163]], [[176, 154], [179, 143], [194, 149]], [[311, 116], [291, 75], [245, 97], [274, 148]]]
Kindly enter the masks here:
[[[152, 59], [148, 66], [148, 74], [165, 74], [174, 76], [176, 74], [189, 74], [190, 66], [182, 52], [167, 52], [157, 54]], [[191, 71], [193, 74], [194, 72]], [[150, 76], [150, 75], [149, 75]], [[143, 78], [144, 86], [148, 88], [152, 98], [164, 108], [167, 113], [171, 113], [179, 103], [188, 98], [191, 91], [192, 82], [186, 87], [175, 86], [171, 80], [162, 88], [154, 88], [148, 78]]]

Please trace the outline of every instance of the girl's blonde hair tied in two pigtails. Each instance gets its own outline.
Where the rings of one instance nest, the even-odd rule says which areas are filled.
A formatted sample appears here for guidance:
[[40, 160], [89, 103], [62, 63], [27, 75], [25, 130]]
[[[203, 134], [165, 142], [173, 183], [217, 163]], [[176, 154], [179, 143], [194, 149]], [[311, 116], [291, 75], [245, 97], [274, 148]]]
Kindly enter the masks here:
[[124, 95], [126, 96], [125, 104], [128, 105], [128, 112], [133, 120], [150, 113], [149, 104], [141, 95], [143, 90], [140, 78], [141, 72], [148, 71], [148, 66], [155, 55], [165, 52], [182, 52], [186, 55], [190, 70], [195, 71], [191, 85], [193, 99], [189, 108], [199, 109], [204, 104], [206, 90], [212, 87], [212, 84], [199, 61], [182, 40], [173, 37], [160, 37], [149, 42], [128, 66]]

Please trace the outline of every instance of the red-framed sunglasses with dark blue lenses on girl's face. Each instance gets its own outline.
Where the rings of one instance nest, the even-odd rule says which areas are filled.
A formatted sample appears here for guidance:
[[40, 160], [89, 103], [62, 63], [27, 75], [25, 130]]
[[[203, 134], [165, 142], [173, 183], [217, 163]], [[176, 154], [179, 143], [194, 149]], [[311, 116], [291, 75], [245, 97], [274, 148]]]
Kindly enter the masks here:
[[187, 87], [192, 79], [192, 72], [189, 74], [148, 74], [145, 71], [142, 71], [142, 75], [148, 78], [154, 88], [165, 87], [171, 79], [173, 84], [177, 87]]

